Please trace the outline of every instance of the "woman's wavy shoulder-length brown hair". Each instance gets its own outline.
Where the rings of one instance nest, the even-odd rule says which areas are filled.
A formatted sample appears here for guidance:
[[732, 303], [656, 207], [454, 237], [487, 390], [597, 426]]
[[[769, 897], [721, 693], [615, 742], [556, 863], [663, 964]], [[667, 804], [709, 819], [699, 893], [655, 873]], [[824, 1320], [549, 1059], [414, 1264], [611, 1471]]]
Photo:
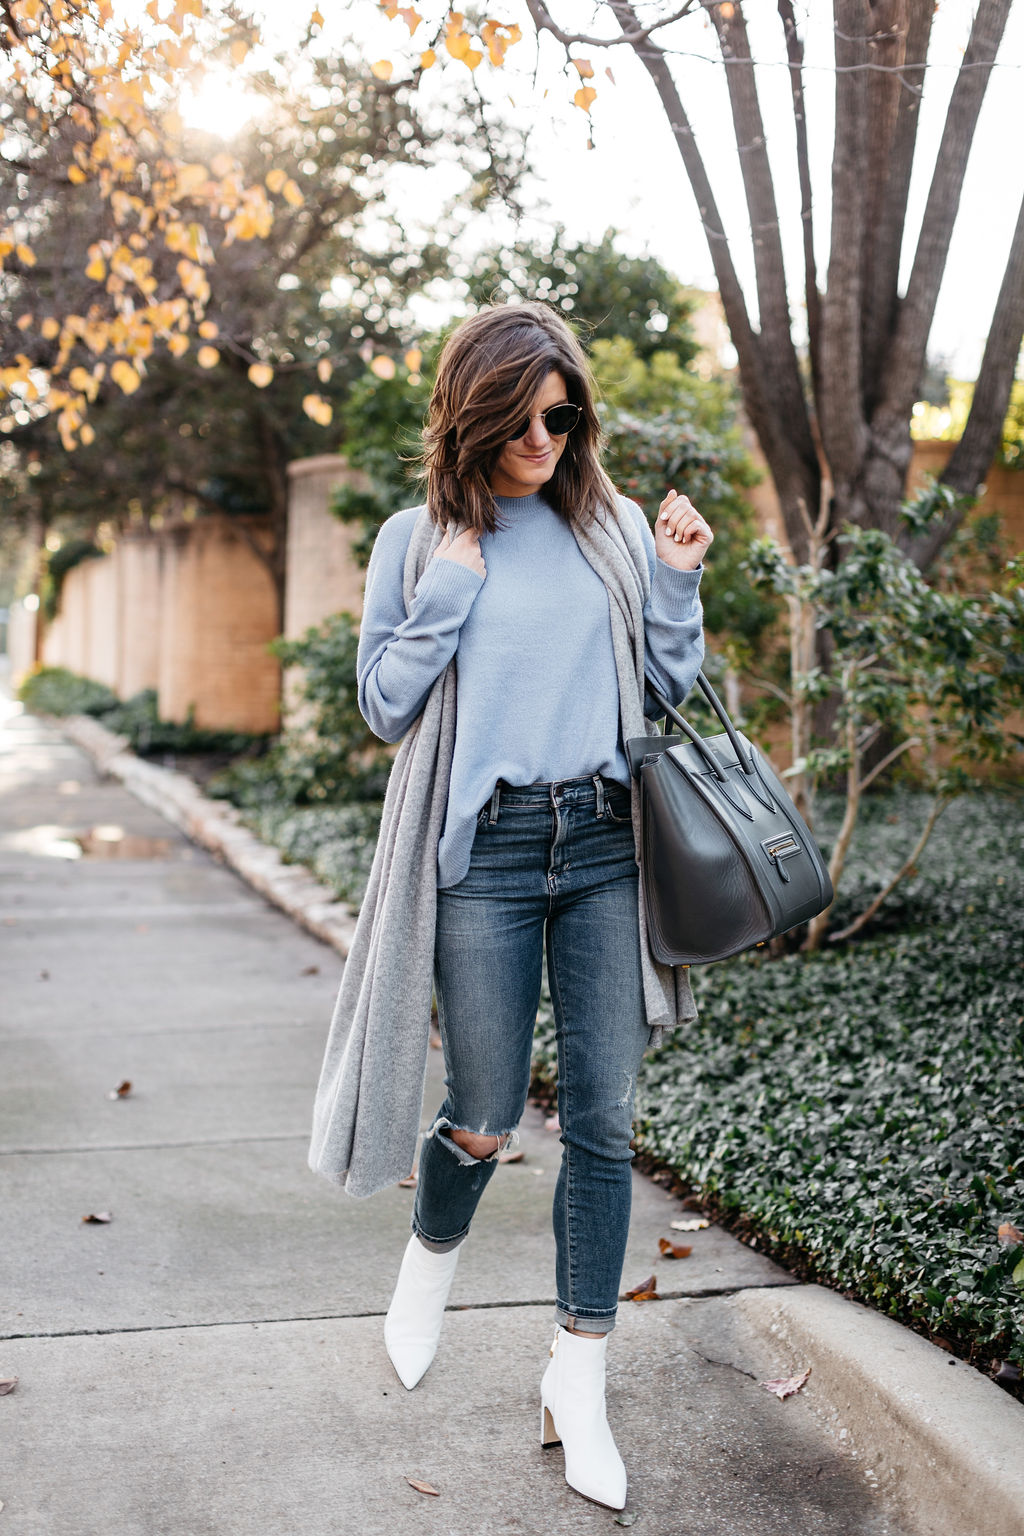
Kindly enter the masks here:
[[491, 476], [548, 373], [562, 375], [580, 418], [543, 495], [571, 525], [583, 525], [602, 510], [617, 516], [616, 492], [600, 464], [602, 432], [586, 353], [547, 304], [494, 304], [464, 319], [438, 361], [422, 467], [427, 505], [442, 528], [457, 524], [494, 533], [500, 525]]

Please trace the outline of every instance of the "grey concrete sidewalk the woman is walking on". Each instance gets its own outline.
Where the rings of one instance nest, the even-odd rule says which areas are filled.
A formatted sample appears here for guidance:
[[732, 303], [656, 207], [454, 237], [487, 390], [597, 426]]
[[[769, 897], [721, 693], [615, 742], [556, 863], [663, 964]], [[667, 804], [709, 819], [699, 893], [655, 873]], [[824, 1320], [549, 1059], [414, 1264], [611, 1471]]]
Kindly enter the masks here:
[[[438, 1359], [407, 1393], [381, 1315], [411, 1190], [353, 1201], [306, 1169], [339, 955], [103, 779], [54, 727], [8, 710], [0, 1378], [18, 1385], [0, 1398], [0, 1533], [619, 1528], [567, 1488], [560, 1450], [539, 1447], [560, 1154], [540, 1112], [522, 1127], [524, 1160], [488, 1189]], [[123, 845], [138, 839], [134, 857], [72, 857], [72, 839], [95, 826], [121, 828]], [[107, 1097], [124, 1078], [130, 1094]], [[427, 1111], [441, 1094], [431, 1052]], [[112, 1220], [83, 1223], [97, 1212]], [[840, 1409], [834, 1390], [821, 1393], [818, 1378], [843, 1376], [846, 1356], [827, 1321], [829, 1338], [815, 1333], [818, 1287], [797, 1286], [717, 1227], [685, 1240], [689, 1258], [660, 1261], [659, 1238], [679, 1240], [669, 1223], [689, 1215], [636, 1175], [625, 1283], [657, 1270], [666, 1298], [625, 1304], [609, 1355], [609, 1416], [637, 1530], [1013, 1528], [999, 1511], [993, 1522], [992, 1505], [975, 1527], [949, 1502], [949, 1522], [933, 1524], [927, 1499], [907, 1496], [920, 1442], [910, 1436], [895, 1455], [886, 1435], [872, 1447], [851, 1428], [863, 1404]], [[827, 1313], [827, 1293], [823, 1304]], [[857, 1313], [869, 1330], [895, 1327]], [[897, 1335], [910, 1341], [907, 1359], [932, 1350]], [[1018, 1410], [932, 1353], [955, 1375], [953, 1396], [979, 1384]], [[785, 1402], [760, 1385], [806, 1366], [811, 1382]], [[949, 1470], [929, 1476], [941, 1485]]]

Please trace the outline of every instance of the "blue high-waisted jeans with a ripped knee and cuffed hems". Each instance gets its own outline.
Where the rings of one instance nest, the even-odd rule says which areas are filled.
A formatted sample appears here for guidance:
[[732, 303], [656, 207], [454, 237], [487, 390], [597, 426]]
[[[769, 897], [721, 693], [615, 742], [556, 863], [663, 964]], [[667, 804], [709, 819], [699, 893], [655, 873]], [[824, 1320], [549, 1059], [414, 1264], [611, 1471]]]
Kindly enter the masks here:
[[614, 1327], [629, 1229], [633, 1100], [649, 1041], [629, 791], [600, 777], [500, 785], [470, 868], [438, 891], [434, 991], [447, 1097], [424, 1138], [413, 1230], [462, 1241], [494, 1174], [448, 1135], [507, 1137], [527, 1104], [547, 932], [562, 1167], [554, 1190], [557, 1319]]

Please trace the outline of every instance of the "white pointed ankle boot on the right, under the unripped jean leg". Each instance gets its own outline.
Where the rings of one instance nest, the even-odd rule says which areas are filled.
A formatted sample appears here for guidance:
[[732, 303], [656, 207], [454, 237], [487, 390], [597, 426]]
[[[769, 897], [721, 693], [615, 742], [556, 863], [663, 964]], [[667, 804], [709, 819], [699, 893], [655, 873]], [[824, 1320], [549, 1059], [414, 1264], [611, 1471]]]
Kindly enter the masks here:
[[585, 1339], [559, 1329], [540, 1381], [540, 1444], [565, 1450], [565, 1481], [597, 1504], [622, 1510], [626, 1468], [605, 1415], [608, 1335]]

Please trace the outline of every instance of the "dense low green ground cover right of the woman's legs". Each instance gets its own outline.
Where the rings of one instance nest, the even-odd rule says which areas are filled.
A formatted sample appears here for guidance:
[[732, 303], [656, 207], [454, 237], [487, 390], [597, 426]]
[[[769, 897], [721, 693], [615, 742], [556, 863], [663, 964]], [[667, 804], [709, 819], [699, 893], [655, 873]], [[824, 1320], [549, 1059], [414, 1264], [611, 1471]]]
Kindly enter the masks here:
[[[838, 920], [921, 814], [869, 802]], [[728, 1224], [981, 1367], [1024, 1364], [1024, 1247], [996, 1236], [1024, 1227], [1022, 852], [1019, 796], [958, 800], [858, 943], [695, 971], [700, 1021], [637, 1091], [640, 1152]]]

